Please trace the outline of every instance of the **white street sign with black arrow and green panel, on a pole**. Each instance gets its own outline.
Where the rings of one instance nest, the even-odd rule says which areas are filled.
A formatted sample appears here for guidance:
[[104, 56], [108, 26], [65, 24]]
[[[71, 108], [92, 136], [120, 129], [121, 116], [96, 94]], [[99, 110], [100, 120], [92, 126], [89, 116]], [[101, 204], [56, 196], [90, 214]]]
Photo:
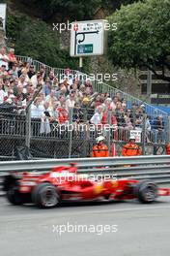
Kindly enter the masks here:
[[102, 55], [106, 45], [104, 19], [71, 23], [71, 56]]

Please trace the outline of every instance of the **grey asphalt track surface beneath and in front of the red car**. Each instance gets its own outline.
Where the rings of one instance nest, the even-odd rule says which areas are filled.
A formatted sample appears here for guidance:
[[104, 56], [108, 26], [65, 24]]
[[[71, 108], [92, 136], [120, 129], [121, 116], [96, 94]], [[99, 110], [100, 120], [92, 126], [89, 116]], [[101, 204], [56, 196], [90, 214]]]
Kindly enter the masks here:
[[[82, 226], [83, 225], [83, 226]], [[0, 198], [2, 256], [168, 256], [170, 198], [39, 209]]]

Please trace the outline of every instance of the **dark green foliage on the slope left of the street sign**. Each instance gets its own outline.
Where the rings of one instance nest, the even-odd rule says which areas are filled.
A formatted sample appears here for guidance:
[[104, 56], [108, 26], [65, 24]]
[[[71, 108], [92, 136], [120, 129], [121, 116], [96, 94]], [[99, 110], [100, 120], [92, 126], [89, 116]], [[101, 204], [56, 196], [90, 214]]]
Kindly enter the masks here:
[[59, 38], [43, 21], [8, 15], [7, 36], [13, 38], [15, 53], [31, 56], [52, 67], [77, 68], [69, 51], [60, 48]]

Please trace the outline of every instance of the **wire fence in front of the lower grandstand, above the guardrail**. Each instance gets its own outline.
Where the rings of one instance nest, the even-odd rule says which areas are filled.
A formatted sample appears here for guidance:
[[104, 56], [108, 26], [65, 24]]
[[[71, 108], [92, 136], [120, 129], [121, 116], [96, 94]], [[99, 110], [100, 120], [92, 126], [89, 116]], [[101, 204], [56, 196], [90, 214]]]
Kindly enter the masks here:
[[[99, 135], [104, 136], [110, 154], [121, 155], [130, 135], [143, 154], [162, 154], [169, 142], [169, 118], [146, 113], [113, 112], [73, 108], [68, 112], [0, 112], [0, 157], [16, 159], [16, 148], [28, 146], [36, 158], [91, 156]], [[62, 115], [63, 114], [63, 115]], [[30, 115], [30, 118], [28, 116]]]

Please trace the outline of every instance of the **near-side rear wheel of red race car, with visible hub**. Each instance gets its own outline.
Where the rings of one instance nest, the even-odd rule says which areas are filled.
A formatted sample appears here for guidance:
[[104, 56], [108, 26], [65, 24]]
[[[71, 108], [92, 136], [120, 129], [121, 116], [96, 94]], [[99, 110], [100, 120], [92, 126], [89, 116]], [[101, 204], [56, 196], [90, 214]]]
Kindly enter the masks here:
[[59, 205], [60, 196], [55, 186], [45, 182], [34, 189], [32, 201], [39, 208], [54, 208]]

